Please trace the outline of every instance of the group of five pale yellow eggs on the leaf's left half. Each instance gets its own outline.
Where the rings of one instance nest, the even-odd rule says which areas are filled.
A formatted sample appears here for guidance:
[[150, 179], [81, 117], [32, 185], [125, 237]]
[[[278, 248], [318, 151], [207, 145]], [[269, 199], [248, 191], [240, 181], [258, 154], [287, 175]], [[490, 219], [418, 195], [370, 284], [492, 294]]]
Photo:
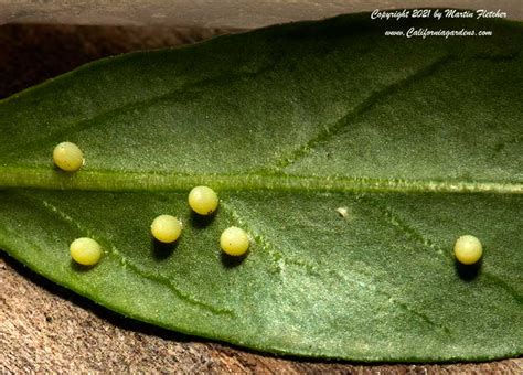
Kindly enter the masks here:
[[[56, 167], [66, 172], [76, 172], [84, 165], [82, 150], [72, 142], [62, 142], [54, 148], [53, 161]], [[211, 215], [218, 206], [218, 197], [209, 186], [195, 186], [189, 193], [189, 205], [199, 215]], [[152, 236], [164, 244], [174, 243], [182, 234], [182, 222], [175, 216], [162, 214], [151, 224]], [[247, 233], [236, 226], [223, 231], [220, 237], [222, 250], [231, 256], [242, 256], [249, 247]], [[82, 237], [75, 239], [71, 246], [71, 257], [84, 266], [96, 265], [102, 257], [102, 247], [93, 238]]]

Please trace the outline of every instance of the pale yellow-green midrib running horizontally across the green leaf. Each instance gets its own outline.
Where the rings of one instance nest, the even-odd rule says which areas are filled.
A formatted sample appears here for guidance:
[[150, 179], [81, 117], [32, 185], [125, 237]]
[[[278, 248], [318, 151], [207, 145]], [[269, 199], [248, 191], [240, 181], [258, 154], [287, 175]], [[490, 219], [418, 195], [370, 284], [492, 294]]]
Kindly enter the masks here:
[[0, 186], [89, 191], [188, 191], [199, 184], [221, 191], [405, 192], [523, 194], [523, 183], [501, 181], [377, 179], [285, 173], [183, 174], [89, 171], [67, 174], [49, 168], [0, 167]]

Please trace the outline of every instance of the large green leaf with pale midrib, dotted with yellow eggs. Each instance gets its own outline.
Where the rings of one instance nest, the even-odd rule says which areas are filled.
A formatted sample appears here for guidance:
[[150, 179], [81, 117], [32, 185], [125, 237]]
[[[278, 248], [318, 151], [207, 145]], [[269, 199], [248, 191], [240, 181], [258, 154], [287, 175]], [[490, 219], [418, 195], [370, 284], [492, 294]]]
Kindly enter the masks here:
[[[384, 35], [409, 26], [493, 35]], [[260, 351], [521, 355], [522, 45], [515, 22], [360, 14], [89, 64], [0, 103], [0, 247], [125, 315]], [[52, 165], [64, 140], [85, 152], [73, 175]], [[191, 214], [198, 184], [214, 217]], [[184, 223], [171, 247], [149, 233], [163, 213]], [[230, 225], [245, 258], [220, 250]], [[463, 234], [480, 267], [456, 264]], [[81, 236], [104, 248], [90, 269]]]

